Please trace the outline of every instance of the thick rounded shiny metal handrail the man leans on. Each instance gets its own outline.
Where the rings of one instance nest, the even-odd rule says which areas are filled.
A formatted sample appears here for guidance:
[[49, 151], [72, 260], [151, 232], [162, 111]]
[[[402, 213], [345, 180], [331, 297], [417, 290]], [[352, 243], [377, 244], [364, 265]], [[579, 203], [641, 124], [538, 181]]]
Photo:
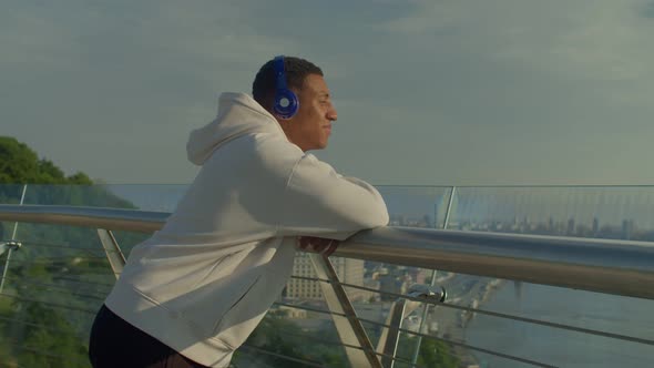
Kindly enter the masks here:
[[[0, 205], [0, 221], [151, 233], [163, 212]], [[654, 243], [386, 226], [360, 232], [336, 256], [654, 299]]]

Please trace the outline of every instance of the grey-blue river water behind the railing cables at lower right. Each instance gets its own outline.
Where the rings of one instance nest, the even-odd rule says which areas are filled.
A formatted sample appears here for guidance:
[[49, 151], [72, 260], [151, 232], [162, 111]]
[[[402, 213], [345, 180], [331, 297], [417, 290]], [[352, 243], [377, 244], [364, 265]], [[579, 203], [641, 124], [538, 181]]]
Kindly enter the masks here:
[[[518, 293], [520, 290], [520, 293]], [[512, 282], [482, 309], [654, 340], [654, 300]], [[478, 315], [467, 340], [558, 367], [654, 367], [654, 346]], [[484, 368], [531, 367], [476, 354]]]

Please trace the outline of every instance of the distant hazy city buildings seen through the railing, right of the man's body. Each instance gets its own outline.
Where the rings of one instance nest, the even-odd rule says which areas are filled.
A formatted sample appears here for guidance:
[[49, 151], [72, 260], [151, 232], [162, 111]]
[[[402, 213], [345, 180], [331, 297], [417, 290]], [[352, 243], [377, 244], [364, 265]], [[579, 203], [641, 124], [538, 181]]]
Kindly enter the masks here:
[[[552, 214], [544, 215], [542, 208], [538, 208], [537, 204], [528, 203], [524, 198], [520, 204], [517, 204], [515, 198], [513, 198], [513, 201], [503, 202], [500, 208], [490, 208], [489, 203], [484, 203], [479, 196], [474, 198], [477, 203], [470, 203], [470, 197], [454, 195], [450, 204], [449, 195], [442, 194], [437, 201], [432, 202], [432, 212], [421, 215], [417, 213], [410, 215], [394, 213], [390, 216], [389, 225], [442, 229], [447, 218], [447, 229], [452, 231], [641, 242], [654, 241], [654, 226], [651, 225], [651, 218], [642, 215], [646, 213], [642, 208], [646, 206], [645, 202], [636, 203], [632, 201], [630, 204], [620, 204], [620, 198], [611, 196], [609, 198], [610, 203], [613, 202], [611, 207], [620, 208], [621, 214], [624, 216], [622, 219], [615, 215], [616, 211], [607, 214], [609, 211], [603, 211], [602, 206], [589, 205], [583, 201], [564, 204], [563, 207], [566, 211], [553, 211]], [[542, 201], [542, 198], [538, 197], [535, 200]], [[574, 197], [571, 200], [574, 202]], [[627, 198], [627, 201], [631, 200]], [[392, 200], [389, 201], [391, 203], [389, 208], [391, 208], [392, 202]], [[405, 201], [398, 202], [406, 204], [410, 203], [411, 200], [405, 198]], [[425, 205], [421, 206], [426, 207]], [[538, 211], [530, 211], [531, 208], [538, 208]], [[592, 213], [592, 211], [595, 212]], [[642, 212], [638, 213], [638, 211]], [[407, 212], [410, 213], [410, 211]], [[488, 216], [487, 218], [483, 218], [484, 214]], [[605, 218], [605, 221], [602, 222], [601, 218]], [[366, 288], [364, 290], [346, 287], [358, 316], [362, 319], [380, 323], [384, 323], [388, 317], [392, 303], [398, 300], [398, 295], [406, 295], [413, 284], [428, 284], [432, 274], [432, 270], [429, 269], [378, 264], [360, 259], [331, 257], [331, 262], [341, 283]], [[288, 282], [283, 299], [298, 305], [324, 306], [319, 283], [311, 280], [316, 275], [313, 273], [309, 257], [306, 254], [296, 255], [293, 274], [296, 277]], [[517, 298], [520, 298], [523, 288], [522, 283], [448, 272], [437, 272], [436, 276], [436, 285], [444, 287], [448, 292], [448, 303], [473, 309], [483, 308], [484, 303], [491, 299], [500, 288], [504, 288], [505, 284], [512, 290], [511, 293]], [[574, 306], [570, 306], [570, 308], [574, 309]], [[286, 310], [290, 310], [290, 308], [286, 308]], [[417, 308], [413, 313], [406, 315], [402, 328], [459, 343], [468, 340], [467, 327], [476, 317], [474, 313], [443, 307], [429, 308], [428, 310], [425, 321], [421, 320], [422, 308]], [[310, 311], [295, 315], [289, 313], [288, 318], [307, 331], [333, 328], [330, 327], [329, 316], [311, 314]], [[370, 328], [369, 333], [375, 337], [380, 333], [380, 329]], [[411, 339], [408, 336], [405, 338]], [[462, 367], [480, 367], [483, 366], [483, 361], [487, 361], [487, 364], [493, 361], [492, 358], [488, 357], [486, 360], [480, 360], [472, 351], [458, 347], [452, 347], [450, 354], [459, 359]], [[504, 364], [505, 361], [499, 362], [499, 366]], [[498, 365], [498, 361], [495, 361], [495, 365]]]

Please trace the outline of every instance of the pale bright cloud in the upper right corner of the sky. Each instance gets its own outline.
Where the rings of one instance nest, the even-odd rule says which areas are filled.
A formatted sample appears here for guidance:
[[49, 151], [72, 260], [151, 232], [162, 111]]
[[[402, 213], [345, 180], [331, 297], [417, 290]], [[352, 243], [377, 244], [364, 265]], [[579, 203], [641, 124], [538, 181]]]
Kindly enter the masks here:
[[[636, 81], [650, 76], [651, 1], [417, 1], [380, 28], [416, 45], [456, 51], [566, 78]], [[634, 9], [641, 9], [640, 13]], [[431, 42], [430, 42], [431, 41]], [[448, 49], [443, 50], [448, 51]]]

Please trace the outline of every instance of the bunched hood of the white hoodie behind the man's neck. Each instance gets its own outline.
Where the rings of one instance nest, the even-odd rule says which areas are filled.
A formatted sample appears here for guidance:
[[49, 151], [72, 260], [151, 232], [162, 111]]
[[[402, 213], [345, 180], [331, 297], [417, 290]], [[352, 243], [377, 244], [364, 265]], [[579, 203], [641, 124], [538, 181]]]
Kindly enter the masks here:
[[277, 120], [245, 93], [223, 93], [214, 121], [191, 132], [186, 143], [188, 161], [202, 166], [221, 145], [246, 134], [284, 134]]

